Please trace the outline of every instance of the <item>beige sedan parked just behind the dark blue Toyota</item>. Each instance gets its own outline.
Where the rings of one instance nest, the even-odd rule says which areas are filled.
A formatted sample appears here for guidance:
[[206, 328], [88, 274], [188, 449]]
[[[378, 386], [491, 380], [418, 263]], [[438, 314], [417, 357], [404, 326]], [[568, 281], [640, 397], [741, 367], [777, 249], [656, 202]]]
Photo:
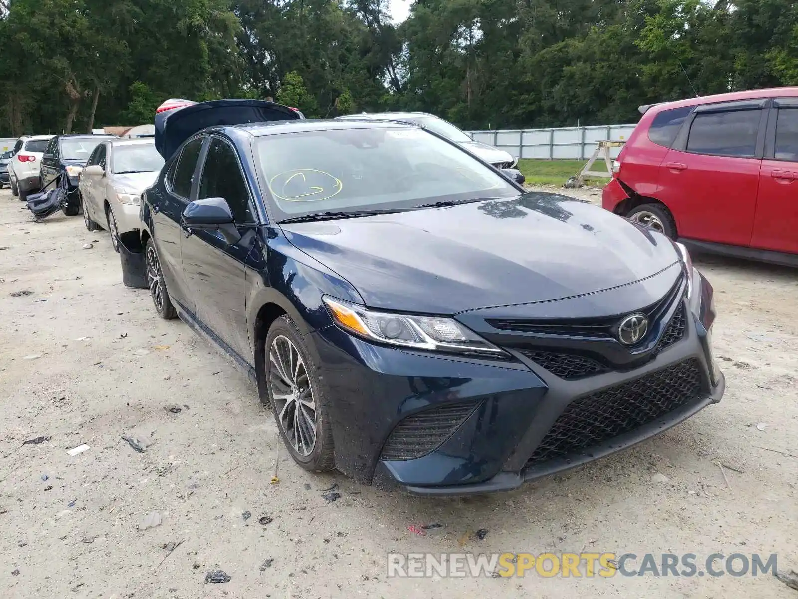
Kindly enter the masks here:
[[119, 252], [120, 235], [139, 228], [141, 192], [155, 183], [163, 165], [152, 138], [97, 145], [77, 184], [86, 228], [105, 228]]

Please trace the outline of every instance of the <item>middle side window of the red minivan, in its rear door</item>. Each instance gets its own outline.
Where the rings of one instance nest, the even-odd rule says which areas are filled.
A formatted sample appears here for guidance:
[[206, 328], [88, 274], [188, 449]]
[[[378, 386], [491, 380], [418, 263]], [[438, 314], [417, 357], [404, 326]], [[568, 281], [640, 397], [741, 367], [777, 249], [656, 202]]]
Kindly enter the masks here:
[[690, 127], [687, 151], [753, 158], [757, 155], [757, 135], [762, 111], [698, 113]]

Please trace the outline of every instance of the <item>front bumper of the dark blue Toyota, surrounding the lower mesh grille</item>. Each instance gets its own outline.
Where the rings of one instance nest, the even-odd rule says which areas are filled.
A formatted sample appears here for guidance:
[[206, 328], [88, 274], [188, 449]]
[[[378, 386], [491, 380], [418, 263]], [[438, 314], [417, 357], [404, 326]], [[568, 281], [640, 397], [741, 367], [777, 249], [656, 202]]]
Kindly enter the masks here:
[[[521, 355], [512, 362], [444, 357], [372, 345], [337, 327], [315, 331], [309, 345], [323, 372], [336, 465], [358, 482], [398, 484], [413, 494], [481, 494], [514, 489], [650, 438], [719, 402], [725, 390], [723, 376], [710, 369], [706, 341], [714, 319], [712, 289], [701, 279], [697, 290], [706, 295], [699, 316], [683, 299], [667, 316], [670, 320], [679, 305], [687, 312], [678, 342], [579, 380], [560, 379]], [[532, 459], [577, 400], [661, 379], [686, 363], [694, 369], [695, 384], [666, 411], [579, 450]], [[635, 401], [639, 407], [649, 400]], [[425, 448], [430, 439], [433, 446]]]

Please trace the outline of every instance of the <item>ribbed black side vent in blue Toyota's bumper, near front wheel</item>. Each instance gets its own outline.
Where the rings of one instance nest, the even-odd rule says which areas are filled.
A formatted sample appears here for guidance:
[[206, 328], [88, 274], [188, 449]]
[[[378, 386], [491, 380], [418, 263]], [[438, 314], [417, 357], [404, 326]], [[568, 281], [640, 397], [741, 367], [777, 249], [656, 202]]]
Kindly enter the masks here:
[[474, 411], [473, 402], [448, 404], [409, 416], [397, 424], [382, 447], [384, 460], [421, 458], [435, 450]]

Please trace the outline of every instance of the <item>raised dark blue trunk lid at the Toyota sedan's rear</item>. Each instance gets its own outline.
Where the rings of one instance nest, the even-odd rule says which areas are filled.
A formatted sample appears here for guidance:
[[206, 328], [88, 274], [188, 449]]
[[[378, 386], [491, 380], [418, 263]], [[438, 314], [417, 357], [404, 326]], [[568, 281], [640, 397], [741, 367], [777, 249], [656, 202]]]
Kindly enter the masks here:
[[155, 147], [168, 160], [180, 144], [206, 127], [302, 118], [298, 110], [263, 100], [167, 100], [156, 111]]

